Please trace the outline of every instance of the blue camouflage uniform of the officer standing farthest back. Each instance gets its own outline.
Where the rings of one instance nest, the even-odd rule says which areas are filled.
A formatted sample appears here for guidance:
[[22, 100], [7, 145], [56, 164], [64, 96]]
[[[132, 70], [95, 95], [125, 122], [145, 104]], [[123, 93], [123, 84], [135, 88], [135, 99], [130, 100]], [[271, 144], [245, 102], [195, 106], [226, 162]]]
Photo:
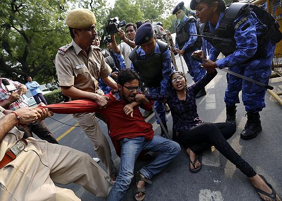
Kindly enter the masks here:
[[[184, 16], [184, 18], [180, 21], [180, 23], [177, 25], [177, 27], [180, 26], [181, 23], [184, 23], [187, 19], [188, 19], [187, 16]], [[187, 33], [197, 34], [196, 25], [195, 25], [194, 22], [189, 23], [189, 26], [187, 28]], [[196, 40], [197, 40], [197, 37], [190, 36], [190, 38], [185, 42], [185, 45], [182, 48], [182, 50], [186, 50], [189, 47], [192, 47]], [[175, 43], [175, 48], [178, 49], [177, 41]], [[192, 79], [193, 79], [194, 82], [197, 82], [198, 80], [200, 80], [206, 74], [206, 70], [200, 66], [200, 62], [198, 62], [194, 59], [191, 59], [192, 53], [196, 50], [199, 50], [199, 49], [194, 48], [193, 51], [190, 51], [190, 52], [183, 54], [183, 58], [186, 62], [186, 65], [188, 67], [190, 75], [193, 77]]]

